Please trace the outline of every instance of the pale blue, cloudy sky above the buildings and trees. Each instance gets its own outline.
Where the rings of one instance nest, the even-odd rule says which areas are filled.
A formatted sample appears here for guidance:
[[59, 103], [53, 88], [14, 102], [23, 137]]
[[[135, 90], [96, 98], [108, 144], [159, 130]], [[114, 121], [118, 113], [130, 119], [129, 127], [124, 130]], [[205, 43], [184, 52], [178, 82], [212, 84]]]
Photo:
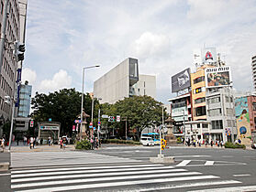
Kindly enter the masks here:
[[216, 47], [237, 91], [252, 90], [256, 1], [29, 0], [22, 80], [36, 91], [93, 91], [93, 82], [124, 59], [156, 75], [157, 99], [168, 103], [171, 76], [193, 68], [193, 50]]

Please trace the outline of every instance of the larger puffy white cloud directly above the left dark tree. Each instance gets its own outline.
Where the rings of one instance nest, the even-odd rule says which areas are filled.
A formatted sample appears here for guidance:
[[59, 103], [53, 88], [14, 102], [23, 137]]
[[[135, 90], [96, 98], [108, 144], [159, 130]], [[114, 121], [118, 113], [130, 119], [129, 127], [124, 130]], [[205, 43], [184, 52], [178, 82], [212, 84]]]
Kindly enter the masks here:
[[39, 91], [59, 91], [63, 88], [70, 88], [72, 85], [72, 77], [67, 71], [60, 69], [59, 72], [53, 75], [52, 80], [42, 80], [39, 84]]

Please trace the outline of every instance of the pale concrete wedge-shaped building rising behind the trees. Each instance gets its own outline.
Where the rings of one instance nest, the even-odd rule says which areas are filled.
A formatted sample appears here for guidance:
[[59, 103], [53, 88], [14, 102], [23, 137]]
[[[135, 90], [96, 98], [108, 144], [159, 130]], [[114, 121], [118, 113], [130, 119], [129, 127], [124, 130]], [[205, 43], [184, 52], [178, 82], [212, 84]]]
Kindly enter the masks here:
[[95, 80], [95, 98], [100, 102], [115, 103], [133, 95], [148, 95], [156, 98], [155, 76], [139, 75], [138, 59], [125, 59], [104, 76]]

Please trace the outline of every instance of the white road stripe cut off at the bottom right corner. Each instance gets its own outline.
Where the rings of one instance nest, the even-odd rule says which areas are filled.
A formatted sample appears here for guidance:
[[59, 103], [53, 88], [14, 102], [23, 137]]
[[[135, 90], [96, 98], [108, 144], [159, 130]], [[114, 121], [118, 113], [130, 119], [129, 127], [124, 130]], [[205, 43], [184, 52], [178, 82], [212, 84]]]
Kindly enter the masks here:
[[203, 190], [194, 190], [190, 192], [199, 192], [199, 191], [204, 191], [204, 192], [242, 192], [242, 191], [252, 191], [255, 190], [256, 186], [240, 186], [240, 187], [223, 187], [223, 188], [210, 188], [210, 189], [203, 189]]

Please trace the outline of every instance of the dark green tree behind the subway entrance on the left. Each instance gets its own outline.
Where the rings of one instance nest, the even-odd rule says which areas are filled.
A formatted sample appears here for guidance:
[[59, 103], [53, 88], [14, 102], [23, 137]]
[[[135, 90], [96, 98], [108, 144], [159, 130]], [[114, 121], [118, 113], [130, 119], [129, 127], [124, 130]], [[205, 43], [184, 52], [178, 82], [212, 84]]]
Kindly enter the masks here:
[[[61, 123], [61, 134], [72, 133], [72, 125], [77, 115], [81, 113], [81, 96], [82, 93], [75, 89], [63, 89], [60, 91], [50, 92], [49, 95], [36, 93], [32, 98], [31, 105], [32, 116], [36, 122], [47, 122], [51, 118], [52, 122]], [[84, 112], [91, 115], [92, 99], [89, 94], [83, 95]], [[98, 101], [95, 101], [95, 107], [98, 107]], [[94, 112], [96, 116], [97, 112]], [[88, 120], [87, 120], [88, 121]]]

